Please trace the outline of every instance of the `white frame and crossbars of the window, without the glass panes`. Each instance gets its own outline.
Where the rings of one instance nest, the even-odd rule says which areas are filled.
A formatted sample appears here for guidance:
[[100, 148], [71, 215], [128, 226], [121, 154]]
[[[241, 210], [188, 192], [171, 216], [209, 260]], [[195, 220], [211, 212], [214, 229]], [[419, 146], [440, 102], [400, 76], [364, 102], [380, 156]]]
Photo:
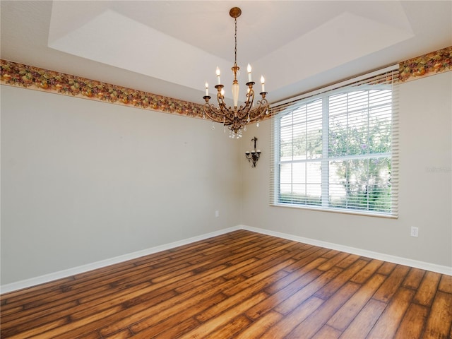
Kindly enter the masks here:
[[[390, 74], [390, 76], [387, 76]], [[387, 82], [384, 80], [388, 77], [391, 81]], [[377, 80], [375, 80], [377, 79]], [[380, 80], [379, 80], [380, 79]], [[383, 81], [381, 81], [383, 79]], [[292, 98], [291, 100], [286, 100], [287, 103], [282, 103], [280, 105], [275, 105], [273, 107], [273, 124], [272, 124], [272, 150], [271, 150], [271, 168], [270, 168], [270, 206], [279, 206], [287, 208], [302, 208], [309, 210], [322, 210], [328, 212], [336, 213], [350, 213], [359, 215], [371, 215], [383, 218], [398, 218], [398, 88], [396, 88], [398, 79], [398, 65], [391, 66], [387, 69], [376, 71], [371, 74], [366, 74], [360, 76], [359, 78], [353, 78], [349, 81], [339, 83], [336, 85], [328, 86], [328, 88], [321, 88], [315, 92], [305, 93], [297, 98]], [[345, 83], [345, 85], [344, 85]], [[391, 90], [391, 151], [384, 153], [366, 153], [364, 155], [343, 155], [336, 157], [329, 157], [328, 154], [328, 142], [330, 135], [330, 119], [328, 112], [328, 101], [329, 97], [332, 95], [337, 95], [338, 93], [351, 93], [359, 90]], [[280, 191], [280, 179], [281, 179], [281, 165], [282, 164], [293, 164], [294, 160], [281, 161], [280, 160], [280, 121], [283, 117], [287, 116], [291, 112], [294, 112], [297, 108], [307, 105], [308, 102], [314, 102], [314, 100], [322, 100], [322, 155], [319, 159], [313, 160], [295, 160], [295, 162], [307, 163], [309, 161], [319, 161], [321, 162], [321, 205], [316, 206], [307, 203], [284, 203], [281, 202], [281, 191]], [[370, 106], [369, 106], [370, 107]], [[368, 108], [369, 108], [368, 107]], [[348, 114], [348, 111], [347, 111]], [[369, 112], [368, 112], [369, 114]], [[293, 139], [292, 139], [293, 140]], [[328, 154], [327, 157], [323, 156]], [[330, 189], [330, 179], [328, 176], [329, 165], [334, 160], [351, 160], [351, 159], [366, 159], [370, 161], [372, 158], [385, 158], [385, 161], [391, 162], [391, 195], [390, 206], [391, 210], [388, 212], [376, 211], [369, 209], [359, 209], [359, 208], [340, 208], [331, 207], [330, 196], [328, 191]], [[293, 185], [293, 179], [290, 179], [290, 183]], [[293, 191], [292, 191], [293, 197]], [[369, 203], [369, 202], [368, 202]], [[369, 205], [367, 205], [369, 208]]]

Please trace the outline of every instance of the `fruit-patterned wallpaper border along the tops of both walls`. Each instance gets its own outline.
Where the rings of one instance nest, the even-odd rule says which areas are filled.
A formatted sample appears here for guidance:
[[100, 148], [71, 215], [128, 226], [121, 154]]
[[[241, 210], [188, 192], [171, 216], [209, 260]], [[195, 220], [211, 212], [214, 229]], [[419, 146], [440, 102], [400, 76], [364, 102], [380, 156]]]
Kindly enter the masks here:
[[[400, 62], [398, 81], [452, 71], [452, 46]], [[0, 59], [0, 83], [141, 109], [203, 117], [203, 105]], [[201, 101], [201, 99], [200, 99]], [[269, 114], [267, 118], [275, 114]]]

